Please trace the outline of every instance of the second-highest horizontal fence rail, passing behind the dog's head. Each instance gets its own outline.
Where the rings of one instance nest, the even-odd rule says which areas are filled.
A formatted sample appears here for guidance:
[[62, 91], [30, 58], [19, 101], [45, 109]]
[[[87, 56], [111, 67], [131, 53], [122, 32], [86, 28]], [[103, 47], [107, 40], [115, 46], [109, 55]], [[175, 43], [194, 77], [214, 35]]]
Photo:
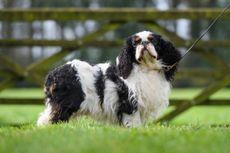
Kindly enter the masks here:
[[[189, 47], [194, 42], [194, 40], [186, 40], [185, 42], [177, 42], [174, 44], [177, 47]], [[44, 39], [0, 39], [0, 46], [4, 47], [14, 47], [14, 46], [59, 46], [59, 47], [81, 47], [81, 46], [93, 46], [93, 47], [103, 47], [103, 46], [112, 46], [112, 47], [121, 47], [124, 43], [124, 40], [95, 40], [93, 42], [83, 44], [79, 40], [44, 40]], [[211, 47], [230, 47], [230, 40], [207, 40], [200, 41], [197, 44], [198, 47], [207, 46]]]

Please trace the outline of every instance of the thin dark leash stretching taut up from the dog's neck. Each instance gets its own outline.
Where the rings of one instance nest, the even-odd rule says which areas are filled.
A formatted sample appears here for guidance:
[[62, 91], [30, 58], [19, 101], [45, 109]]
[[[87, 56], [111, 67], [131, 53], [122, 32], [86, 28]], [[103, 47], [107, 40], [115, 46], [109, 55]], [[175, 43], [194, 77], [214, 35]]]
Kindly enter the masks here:
[[211, 27], [224, 15], [224, 13], [230, 8], [230, 3], [223, 9], [223, 11], [212, 21], [212, 23], [206, 28], [206, 30], [194, 41], [194, 43], [189, 47], [189, 49], [181, 56], [181, 58], [172, 65], [163, 65], [165, 71], [169, 71], [174, 66], [176, 66], [187, 54], [192, 50], [192, 48], [203, 38], [203, 36], [210, 31]]

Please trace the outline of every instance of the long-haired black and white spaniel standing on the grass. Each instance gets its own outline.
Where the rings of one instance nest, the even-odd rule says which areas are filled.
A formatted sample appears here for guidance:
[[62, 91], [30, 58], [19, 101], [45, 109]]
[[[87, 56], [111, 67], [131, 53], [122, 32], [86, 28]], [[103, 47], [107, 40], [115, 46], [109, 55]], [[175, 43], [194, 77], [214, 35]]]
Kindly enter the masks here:
[[46, 108], [37, 125], [90, 115], [97, 120], [138, 127], [168, 106], [171, 81], [181, 58], [172, 43], [149, 31], [126, 40], [117, 64], [73, 60], [51, 71], [45, 82]]

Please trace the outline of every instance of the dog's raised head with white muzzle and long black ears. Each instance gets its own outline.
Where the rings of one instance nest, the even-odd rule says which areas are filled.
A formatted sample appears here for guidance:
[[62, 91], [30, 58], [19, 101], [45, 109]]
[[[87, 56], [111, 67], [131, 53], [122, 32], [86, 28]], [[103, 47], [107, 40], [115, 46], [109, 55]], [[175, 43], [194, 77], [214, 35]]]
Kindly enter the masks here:
[[127, 38], [125, 46], [117, 57], [120, 76], [128, 78], [133, 65], [152, 70], [163, 70], [167, 80], [171, 80], [176, 66], [166, 71], [164, 65], [172, 65], [181, 58], [180, 52], [160, 35], [142, 31]]

